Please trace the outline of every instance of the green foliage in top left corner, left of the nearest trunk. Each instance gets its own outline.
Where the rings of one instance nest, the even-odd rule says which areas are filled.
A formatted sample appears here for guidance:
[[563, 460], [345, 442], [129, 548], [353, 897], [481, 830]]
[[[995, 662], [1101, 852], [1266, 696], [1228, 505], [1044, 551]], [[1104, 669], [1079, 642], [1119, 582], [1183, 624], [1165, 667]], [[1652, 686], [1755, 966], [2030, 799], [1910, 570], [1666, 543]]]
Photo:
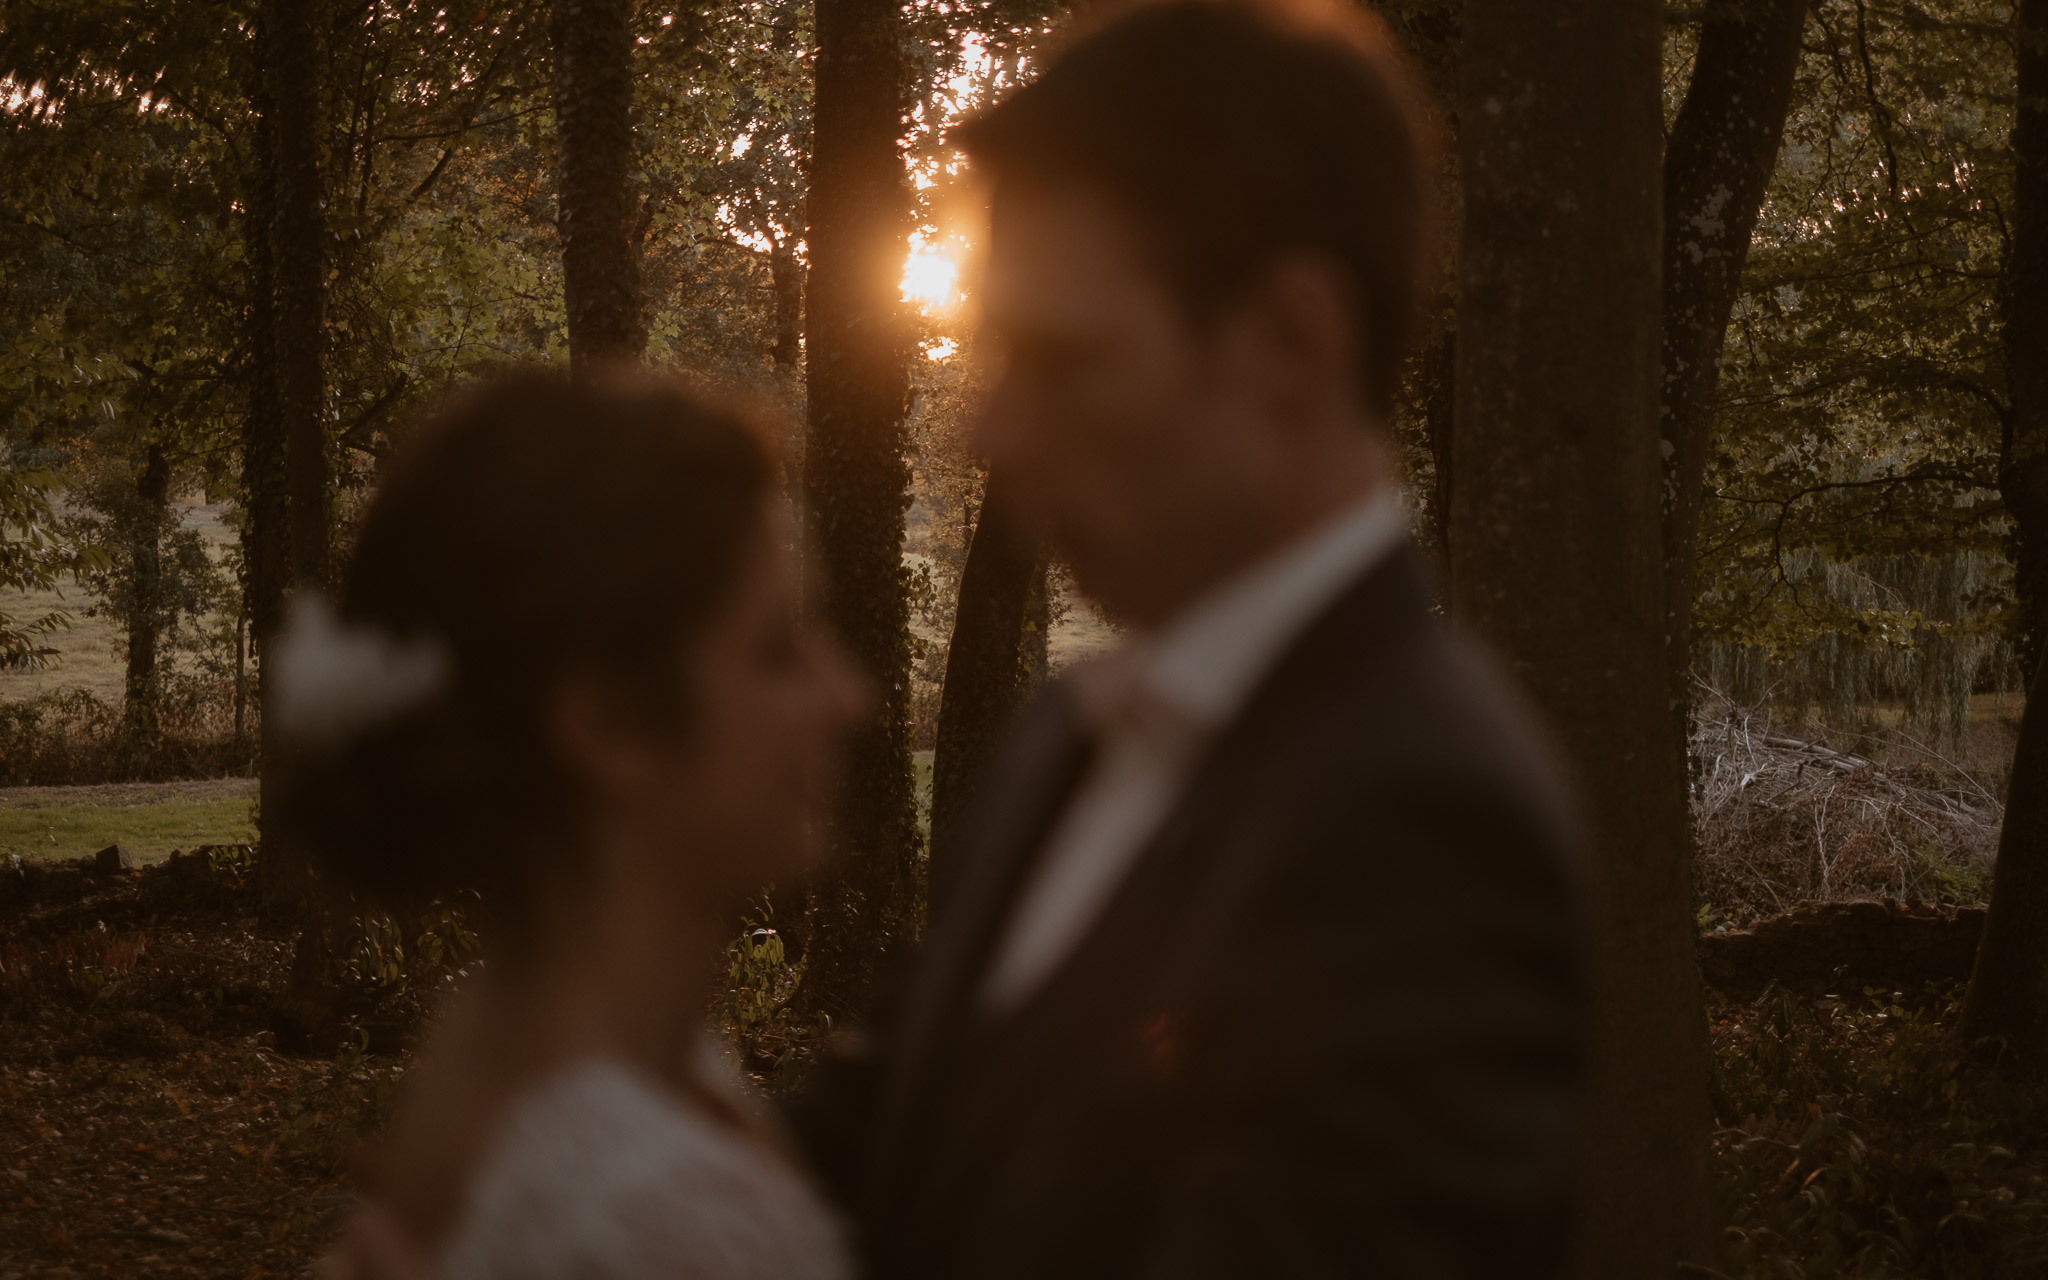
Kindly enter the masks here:
[[240, 403], [240, 41], [213, 6], [113, 8], [0, 6], [0, 74], [31, 90], [0, 117], [0, 430], [211, 457]]

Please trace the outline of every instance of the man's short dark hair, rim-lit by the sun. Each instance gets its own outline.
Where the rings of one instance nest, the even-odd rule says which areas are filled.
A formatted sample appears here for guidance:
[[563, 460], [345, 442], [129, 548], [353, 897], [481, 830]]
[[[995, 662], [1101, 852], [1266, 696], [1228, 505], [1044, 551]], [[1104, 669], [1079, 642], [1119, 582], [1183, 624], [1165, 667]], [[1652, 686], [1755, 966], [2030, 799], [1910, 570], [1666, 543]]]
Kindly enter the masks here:
[[958, 129], [1006, 184], [1106, 199], [1196, 322], [1282, 252], [1352, 291], [1356, 375], [1384, 416], [1430, 248], [1432, 129], [1356, 0], [1141, 0], [1083, 23], [1047, 72]]

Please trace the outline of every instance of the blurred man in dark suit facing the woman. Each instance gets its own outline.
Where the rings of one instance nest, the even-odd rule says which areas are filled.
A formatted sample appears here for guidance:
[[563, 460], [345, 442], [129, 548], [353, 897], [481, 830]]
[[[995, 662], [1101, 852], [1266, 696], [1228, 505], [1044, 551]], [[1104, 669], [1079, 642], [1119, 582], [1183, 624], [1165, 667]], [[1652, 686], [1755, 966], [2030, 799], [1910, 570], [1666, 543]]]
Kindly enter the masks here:
[[981, 444], [1133, 639], [1026, 713], [797, 1108], [870, 1272], [1561, 1274], [1577, 850], [1395, 489], [1430, 158], [1384, 33], [1143, 4], [963, 139]]

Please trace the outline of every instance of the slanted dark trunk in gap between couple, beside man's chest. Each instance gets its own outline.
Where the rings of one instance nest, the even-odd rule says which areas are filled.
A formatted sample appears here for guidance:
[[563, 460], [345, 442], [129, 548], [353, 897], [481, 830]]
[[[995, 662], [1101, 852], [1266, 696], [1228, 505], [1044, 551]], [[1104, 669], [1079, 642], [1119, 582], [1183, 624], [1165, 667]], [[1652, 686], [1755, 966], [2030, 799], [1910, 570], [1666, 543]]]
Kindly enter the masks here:
[[[938, 743], [932, 752], [932, 883], [934, 895], [952, 856], [952, 836], [973, 803], [1026, 692], [1024, 637], [1032, 580], [1044, 600], [1044, 567], [1036, 547], [1016, 528], [1004, 477], [989, 473], [981, 518], [961, 567], [961, 600], [946, 649], [946, 688], [938, 702]], [[1042, 645], [1040, 645], [1042, 647]]]

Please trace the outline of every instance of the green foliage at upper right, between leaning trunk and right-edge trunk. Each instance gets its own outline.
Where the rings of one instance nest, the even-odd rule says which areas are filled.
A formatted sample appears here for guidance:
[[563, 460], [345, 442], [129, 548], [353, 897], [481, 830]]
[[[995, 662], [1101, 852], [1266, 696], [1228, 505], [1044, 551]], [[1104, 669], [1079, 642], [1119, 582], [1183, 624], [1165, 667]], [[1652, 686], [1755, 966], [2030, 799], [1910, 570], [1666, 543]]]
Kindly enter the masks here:
[[1835, 723], [1892, 700], [1958, 733], [1972, 690], [2017, 682], [1997, 494], [2009, 12], [1823, 0], [1808, 25], [1702, 514], [1696, 651], [1739, 700]]

